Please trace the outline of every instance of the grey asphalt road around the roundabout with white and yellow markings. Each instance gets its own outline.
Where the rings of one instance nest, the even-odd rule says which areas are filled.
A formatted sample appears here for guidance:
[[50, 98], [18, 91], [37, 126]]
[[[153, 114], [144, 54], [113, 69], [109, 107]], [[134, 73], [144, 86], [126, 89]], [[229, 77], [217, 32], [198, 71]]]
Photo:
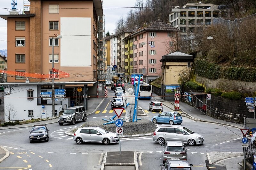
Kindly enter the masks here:
[[[114, 92], [108, 87], [109, 96]], [[115, 115], [111, 112], [112, 97], [105, 99], [96, 113], [88, 115], [87, 121], [108, 118]], [[151, 99], [153, 100], [153, 99]], [[148, 111], [151, 100], [139, 100], [139, 106], [147, 113], [141, 116], [151, 120], [158, 113]], [[104, 110], [106, 110], [105, 113]], [[164, 111], [170, 111], [164, 106]], [[124, 114], [123, 114], [124, 116]], [[140, 117], [138, 117], [140, 118]], [[20, 167], [46, 170], [46, 169], [100, 169], [104, 152], [119, 151], [119, 144], [105, 146], [103, 144], [86, 143], [77, 145], [72, 137], [66, 136], [65, 131], [84, 122], [76, 122], [75, 125], [58, 123], [48, 124], [50, 129], [49, 142], [29, 143], [30, 128], [0, 130], [0, 145], [9, 150], [10, 156], [0, 163], [0, 169]], [[86, 122], [85, 122], [86, 123]], [[38, 123], [39, 124], [39, 123]], [[193, 170], [206, 169], [206, 155], [210, 152], [243, 152], [241, 147], [240, 129], [224, 127], [206, 122], [195, 122], [183, 117], [183, 126], [202, 134], [204, 144], [188, 146], [188, 162], [193, 164]], [[235, 132], [236, 134], [232, 133]], [[162, 163], [163, 147], [153, 142], [152, 136], [133, 137], [121, 139], [121, 151], [142, 152], [138, 157], [140, 170], [160, 169]], [[18, 168], [17, 168], [18, 169]]]

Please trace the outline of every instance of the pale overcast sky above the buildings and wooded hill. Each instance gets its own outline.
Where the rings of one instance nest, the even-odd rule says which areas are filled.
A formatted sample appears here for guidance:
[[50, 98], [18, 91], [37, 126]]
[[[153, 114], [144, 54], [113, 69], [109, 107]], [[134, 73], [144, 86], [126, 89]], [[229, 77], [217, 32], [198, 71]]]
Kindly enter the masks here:
[[[9, 14], [12, 0], [0, 0], [0, 14]], [[126, 18], [127, 13], [134, 7], [136, 0], [103, 0], [103, 14], [105, 18], [105, 33], [115, 33], [115, 23], [120, 17]], [[23, 8], [23, 0], [17, 0], [17, 9]], [[0, 50], [7, 49], [7, 21], [0, 18]]]

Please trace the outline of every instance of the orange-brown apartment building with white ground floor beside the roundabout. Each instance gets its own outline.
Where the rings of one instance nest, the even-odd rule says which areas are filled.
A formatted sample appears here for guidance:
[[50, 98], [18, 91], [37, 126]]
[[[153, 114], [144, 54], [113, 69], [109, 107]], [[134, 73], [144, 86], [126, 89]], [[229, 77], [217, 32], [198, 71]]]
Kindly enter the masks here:
[[[96, 97], [100, 16], [101, 0], [30, 0], [25, 14], [0, 15], [7, 20], [4, 103], [19, 111], [15, 119], [59, 115], [64, 107], [86, 105], [84, 94]], [[51, 97], [40, 95], [52, 92], [53, 79], [55, 89], [66, 90], [64, 100], [55, 100], [54, 110]]]

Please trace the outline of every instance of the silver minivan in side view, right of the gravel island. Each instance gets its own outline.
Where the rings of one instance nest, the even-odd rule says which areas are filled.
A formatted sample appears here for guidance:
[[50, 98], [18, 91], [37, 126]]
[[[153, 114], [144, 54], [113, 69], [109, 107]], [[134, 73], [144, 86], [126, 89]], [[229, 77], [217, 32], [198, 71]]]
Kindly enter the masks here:
[[153, 133], [153, 141], [164, 144], [166, 141], [181, 141], [190, 146], [203, 144], [202, 135], [181, 125], [157, 125]]

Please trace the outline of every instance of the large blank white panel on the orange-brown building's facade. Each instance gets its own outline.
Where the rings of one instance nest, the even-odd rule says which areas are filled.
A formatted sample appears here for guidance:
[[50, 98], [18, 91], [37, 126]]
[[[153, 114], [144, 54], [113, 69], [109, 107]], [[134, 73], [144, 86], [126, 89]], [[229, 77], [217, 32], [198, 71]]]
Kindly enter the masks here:
[[60, 18], [60, 66], [91, 67], [91, 30], [91, 18]]

